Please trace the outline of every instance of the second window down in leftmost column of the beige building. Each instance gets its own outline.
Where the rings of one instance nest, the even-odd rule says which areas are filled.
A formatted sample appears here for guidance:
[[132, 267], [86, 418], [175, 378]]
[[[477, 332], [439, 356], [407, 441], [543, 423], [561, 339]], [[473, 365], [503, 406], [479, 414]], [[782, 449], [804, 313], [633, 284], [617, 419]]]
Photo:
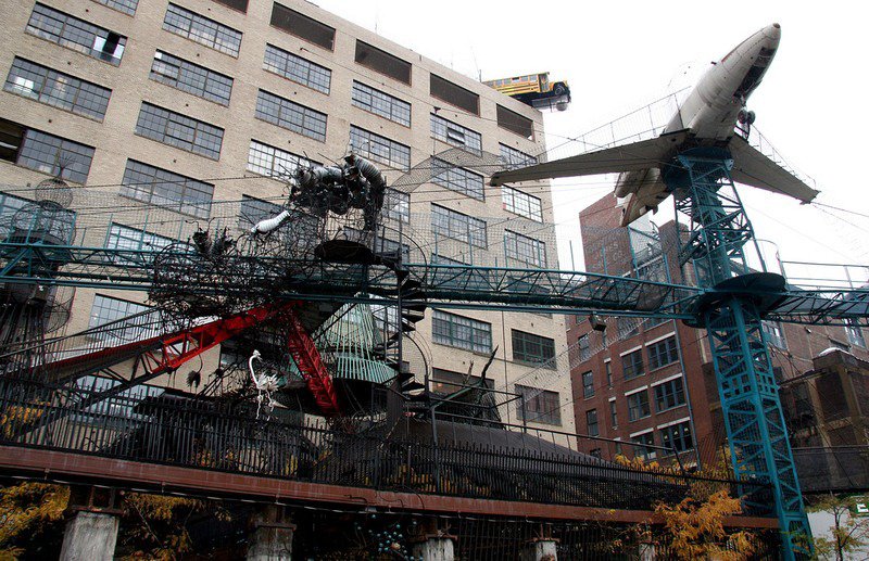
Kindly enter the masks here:
[[4, 89], [99, 120], [105, 117], [112, 94], [109, 88], [17, 56], [12, 62]]

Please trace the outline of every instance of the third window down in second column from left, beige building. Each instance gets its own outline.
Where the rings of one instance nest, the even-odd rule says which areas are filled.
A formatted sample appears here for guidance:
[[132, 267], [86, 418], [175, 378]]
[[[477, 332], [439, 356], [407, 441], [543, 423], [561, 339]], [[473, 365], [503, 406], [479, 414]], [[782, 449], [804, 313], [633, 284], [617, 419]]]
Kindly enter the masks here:
[[224, 129], [142, 102], [136, 133], [171, 146], [219, 160]]

